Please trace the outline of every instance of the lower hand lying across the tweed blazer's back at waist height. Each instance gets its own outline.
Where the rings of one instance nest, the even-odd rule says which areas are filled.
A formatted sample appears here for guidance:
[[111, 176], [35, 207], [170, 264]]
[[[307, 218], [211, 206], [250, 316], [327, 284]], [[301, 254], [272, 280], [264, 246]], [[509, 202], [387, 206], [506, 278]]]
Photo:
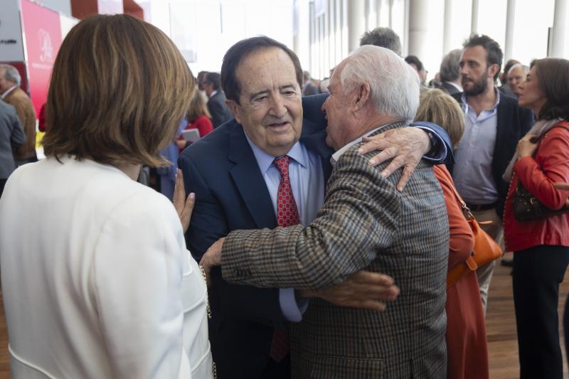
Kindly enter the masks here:
[[301, 297], [319, 297], [337, 306], [384, 311], [385, 302], [393, 301], [399, 288], [393, 278], [378, 272], [358, 271], [351, 274], [344, 283], [318, 291], [299, 290]]

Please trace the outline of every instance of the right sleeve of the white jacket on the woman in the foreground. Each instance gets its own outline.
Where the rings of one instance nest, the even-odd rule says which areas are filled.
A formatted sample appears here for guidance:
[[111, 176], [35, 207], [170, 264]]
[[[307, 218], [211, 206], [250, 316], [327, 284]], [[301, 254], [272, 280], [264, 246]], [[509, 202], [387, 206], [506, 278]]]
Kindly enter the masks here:
[[139, 194], [120, 203], [97, 238], [91, 282], [117, 378], [191, 378], [183, 347], [186, 249], [171, 204]]

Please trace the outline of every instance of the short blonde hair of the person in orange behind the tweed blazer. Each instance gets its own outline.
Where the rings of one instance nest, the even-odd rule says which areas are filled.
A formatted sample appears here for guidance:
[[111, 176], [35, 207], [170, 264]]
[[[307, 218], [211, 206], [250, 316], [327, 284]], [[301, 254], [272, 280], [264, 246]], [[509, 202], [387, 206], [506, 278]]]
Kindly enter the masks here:
[[453, 148], [464, 133], [464, 112], [456, 100], [437, 88], [421, 90], [415, 121], [432, 122], [445, 129]]

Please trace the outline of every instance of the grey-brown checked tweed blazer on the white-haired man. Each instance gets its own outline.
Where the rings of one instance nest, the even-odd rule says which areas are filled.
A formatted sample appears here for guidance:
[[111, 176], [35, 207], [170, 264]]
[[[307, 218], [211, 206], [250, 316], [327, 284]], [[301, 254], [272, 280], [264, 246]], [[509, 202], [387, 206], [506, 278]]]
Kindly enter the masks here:
[[325, 203], [307, 228], [231, 232], [223, 277], [314, 289], [359, 269], [388, 274], [400, 295], [383, 312], [311, 299], [291, 329], [292, 377], [446, 378], [449, 226], [440, 185], [432, 166], [421, 162], [400, 193], [399, 175], [382, 178], [385, 165], [370, 166], [373, 154], [358, 154], [358, 146], [336, 162]]

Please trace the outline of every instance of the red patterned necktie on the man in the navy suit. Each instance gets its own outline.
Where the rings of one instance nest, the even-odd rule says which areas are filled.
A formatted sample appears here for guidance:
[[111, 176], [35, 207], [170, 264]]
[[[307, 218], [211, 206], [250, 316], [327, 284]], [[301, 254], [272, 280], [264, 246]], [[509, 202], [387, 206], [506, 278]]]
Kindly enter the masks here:
[[[289, 161], [287, 155], [276, 158], [274, 163], [280, 171], [279, 190], [277, 191], [277, 226], [287, 227], [299, 223], [297, 203], [292, 195], [289, 178]], [[272, 335], [270, 357], [277, 362], [282, 361], [290, 351], [289, 333], [287, 329], [275, 329]]]

